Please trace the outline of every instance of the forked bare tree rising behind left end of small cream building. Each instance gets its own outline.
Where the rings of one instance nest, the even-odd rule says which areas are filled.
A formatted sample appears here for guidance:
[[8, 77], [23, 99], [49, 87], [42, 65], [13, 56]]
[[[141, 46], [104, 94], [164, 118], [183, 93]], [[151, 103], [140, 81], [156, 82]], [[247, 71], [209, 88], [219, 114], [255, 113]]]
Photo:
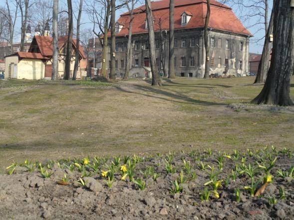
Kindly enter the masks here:
[[25, 38], [25, 30], [28, 16], [28, 8], [31, 7], [32, 4], [29, 4], [29, 0], [15, 0], [16, 4], [20, 10], [20, 18], [21, 18], [21, 38], [20, 38], [20, 51], [24, 50], [24, 38]]

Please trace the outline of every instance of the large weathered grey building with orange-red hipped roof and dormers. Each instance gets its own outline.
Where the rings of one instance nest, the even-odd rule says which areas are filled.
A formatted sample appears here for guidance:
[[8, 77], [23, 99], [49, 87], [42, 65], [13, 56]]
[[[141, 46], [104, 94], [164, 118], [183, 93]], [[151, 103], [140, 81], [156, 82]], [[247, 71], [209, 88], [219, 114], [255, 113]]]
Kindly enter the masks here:
[[[159, 69], [162, 75], [162, 64], [166, 69], [168, 68], [169, 0], [153, 1], [151, 4], [154, 17], [156, 61], [158, 67], [161, 65]], [[210, 51], [207, 55], [204, 46], [206, 11], [206, 0], [175, 0], [174, 61], [176, 76], [201, 78], [204, 76], [205, 62], [210, 64], [210, 74], [246, 76], [246, 73], [249, 72], [249, 38], [252, 34], [236, 17], [232, 8], [211, 0]], [[124, 75], [129, 24], [129, 12], [121, 14], [116, 22], [117, 77]], [[142, 70], [150, 66], [145, 5], [134, 9], [132, 48], [131, 76], [142, 76]], [[110, 53], [105, 62], [109, 62], [109, 59]]]

